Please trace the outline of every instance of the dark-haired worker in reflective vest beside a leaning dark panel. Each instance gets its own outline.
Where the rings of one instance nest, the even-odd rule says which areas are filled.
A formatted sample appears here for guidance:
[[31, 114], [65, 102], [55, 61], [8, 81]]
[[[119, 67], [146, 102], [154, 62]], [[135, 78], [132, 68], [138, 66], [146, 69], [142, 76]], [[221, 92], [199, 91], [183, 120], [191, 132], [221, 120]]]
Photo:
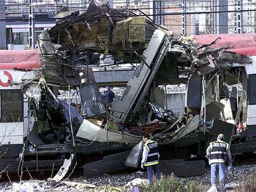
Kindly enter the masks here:
[[153, 184], [153, 175], [156, 174], [156, 178], [160, 180], [161, 173], [158, 170], [158, 144], [156, 141], [150, 140], [150, 135], [143, 135], [143, 153], [142, 153], [142, 169], [147, 168], [147, 175], [150, 184]]

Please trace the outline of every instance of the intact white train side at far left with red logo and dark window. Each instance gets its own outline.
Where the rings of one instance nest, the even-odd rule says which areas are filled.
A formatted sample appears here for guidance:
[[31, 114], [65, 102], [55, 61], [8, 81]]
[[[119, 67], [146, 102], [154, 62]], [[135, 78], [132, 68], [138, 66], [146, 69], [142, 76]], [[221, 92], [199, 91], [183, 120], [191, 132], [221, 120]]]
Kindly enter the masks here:
[[0, 70], [0, 146], [23, 145], [24, 119], [28, 117], [28, 102], [24, 103], [20, 83], [23, 78], [31, 77], [33, 72]]

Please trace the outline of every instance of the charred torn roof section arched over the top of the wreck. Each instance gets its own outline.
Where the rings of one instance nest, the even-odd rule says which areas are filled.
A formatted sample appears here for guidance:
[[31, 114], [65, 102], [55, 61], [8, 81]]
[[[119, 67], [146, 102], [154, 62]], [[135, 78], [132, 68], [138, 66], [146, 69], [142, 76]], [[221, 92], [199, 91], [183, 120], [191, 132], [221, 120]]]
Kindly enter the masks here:
[[109, 52], [123, 60], [138, 60], [133, 47], [142, 54], [158, 27], [144, 16], [127, 19], [129, 13], [134, 14], [124, 9], [109, 9], [103, 1], [93, 1], [85, 13], [65, 17], [49, 34], [54, 43], [69, 46], [74, 52], [96, 51], [105, 56]]

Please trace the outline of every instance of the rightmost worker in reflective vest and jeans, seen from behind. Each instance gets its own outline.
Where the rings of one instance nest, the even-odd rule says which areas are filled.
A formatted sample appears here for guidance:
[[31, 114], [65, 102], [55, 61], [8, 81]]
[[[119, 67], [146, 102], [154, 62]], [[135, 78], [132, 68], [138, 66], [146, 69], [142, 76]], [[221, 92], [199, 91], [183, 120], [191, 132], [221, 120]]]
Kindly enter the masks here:
[[216, 185], [216, 175], [219, 173], [221, 190], [226, 191], [226, 164], [232, 167], [232, 159], [229, 144], [224, 142], [223, 134], [218, 135], [217, 141], [210, 143], [207, 148], [207, 157], [211, 165], [211, 186]]

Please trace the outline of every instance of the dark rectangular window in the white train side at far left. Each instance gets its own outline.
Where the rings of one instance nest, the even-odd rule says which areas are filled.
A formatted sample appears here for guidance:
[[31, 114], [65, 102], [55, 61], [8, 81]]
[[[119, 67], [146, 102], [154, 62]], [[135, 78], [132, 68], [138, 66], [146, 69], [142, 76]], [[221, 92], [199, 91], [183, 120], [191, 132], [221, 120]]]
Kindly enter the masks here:
[[22, 90], [0, 90], [0, 123], [23, 121]]

